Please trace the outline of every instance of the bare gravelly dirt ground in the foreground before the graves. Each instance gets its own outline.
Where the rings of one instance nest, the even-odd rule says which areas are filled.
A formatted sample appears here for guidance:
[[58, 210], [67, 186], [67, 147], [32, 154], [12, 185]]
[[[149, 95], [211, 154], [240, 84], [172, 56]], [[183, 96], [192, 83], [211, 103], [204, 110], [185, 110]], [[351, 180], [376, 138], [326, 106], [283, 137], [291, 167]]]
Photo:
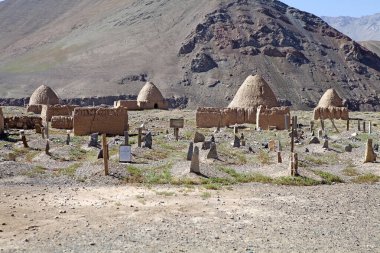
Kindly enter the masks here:
[[2, 186], [1, 252], [376, 252], [380, 184]]

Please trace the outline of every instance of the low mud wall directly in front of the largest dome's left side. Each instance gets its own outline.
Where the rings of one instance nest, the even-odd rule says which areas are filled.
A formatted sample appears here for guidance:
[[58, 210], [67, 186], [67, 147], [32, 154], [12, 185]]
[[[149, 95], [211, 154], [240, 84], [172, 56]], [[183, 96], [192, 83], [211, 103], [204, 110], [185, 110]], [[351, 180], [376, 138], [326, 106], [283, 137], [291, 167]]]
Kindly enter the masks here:
[[256, 123], [255, 108], [200, 107], [196, 112], [196, 125], [199, 128], [226, 127], [246, 123]]

